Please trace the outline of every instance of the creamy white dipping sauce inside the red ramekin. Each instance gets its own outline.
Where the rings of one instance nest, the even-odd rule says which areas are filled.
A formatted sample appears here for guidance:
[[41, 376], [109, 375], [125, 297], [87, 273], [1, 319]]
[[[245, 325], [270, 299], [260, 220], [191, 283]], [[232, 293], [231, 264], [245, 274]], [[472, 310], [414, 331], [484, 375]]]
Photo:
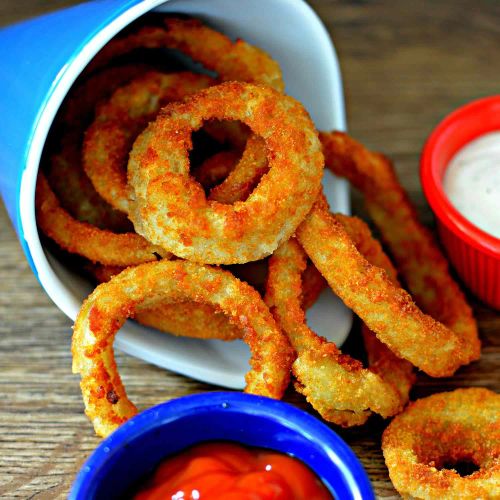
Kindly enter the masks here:
[[466, 219], [500, 238], [500, 131], [460, 149], [446, 168], [443, 188]]

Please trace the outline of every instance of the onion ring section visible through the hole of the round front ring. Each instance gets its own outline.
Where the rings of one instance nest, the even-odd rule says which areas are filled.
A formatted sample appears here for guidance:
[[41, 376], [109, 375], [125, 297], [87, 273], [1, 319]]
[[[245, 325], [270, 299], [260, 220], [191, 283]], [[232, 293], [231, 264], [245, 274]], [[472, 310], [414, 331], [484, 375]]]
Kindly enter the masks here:
[[208, 199], [228, 204], [245, 201], [268, 170], [266, 144], [258, 135], [252, 135], [240, 161], [226, 179], [210, 191]]

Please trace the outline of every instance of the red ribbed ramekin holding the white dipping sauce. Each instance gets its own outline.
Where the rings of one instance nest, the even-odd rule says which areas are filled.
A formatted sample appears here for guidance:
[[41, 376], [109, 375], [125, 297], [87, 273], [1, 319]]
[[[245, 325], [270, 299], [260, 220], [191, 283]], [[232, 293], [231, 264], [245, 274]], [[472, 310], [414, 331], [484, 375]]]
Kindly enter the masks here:
[[420, 180], [453, 267], [475, 295], [500, 310], [500, 239], [461, 215], [443, 190], [444, 173], [453, 155], [493, 131], [500, 131], [500, 95], [473, 101], [448, 115], [427, 139]]

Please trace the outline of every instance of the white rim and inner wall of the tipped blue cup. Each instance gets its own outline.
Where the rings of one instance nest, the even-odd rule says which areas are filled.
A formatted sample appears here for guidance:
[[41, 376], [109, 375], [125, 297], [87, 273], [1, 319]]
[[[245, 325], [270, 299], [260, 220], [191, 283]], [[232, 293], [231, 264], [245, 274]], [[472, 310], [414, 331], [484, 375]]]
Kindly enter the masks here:
[[[155, 7], [161, 12], [180, 12], [199, 17], [231, 37], [242, 37], [268, 51], [280, 63], [287, 92], [298, 98], [320, 129], [345, 129], [340, 71], [328, 33], [312, 9], [302, 0], [171, 0], [144, 1], [140, 14]], [[59, 87], [68, 89], [89, 59], [120, 29], [134, 21], [138, 6], [117, 19], [110, 32], [99, 32], [86, 47], [87, 58], [68, 64]], [[149, 6], [149, 8], [148, 8]], [[276, 23], [276, 19], [286, 22]], [[304, 43], [307, 40], [307, 43]], [[33, 146], [21, 186], [24, 236], [33, 257], [38, 278], [56, 305], [75, 319], [92, 285], [61, 264], [42, 248], [34, 217], [34, 186], [40, 155], [53, 116], [64, 95], [54, 92], [34, 134]], [[59, 102], [54, 102], [56, 97]], [[325, 173], [324, 189], [334, 211], [349, 212], [347, 184]], [[346, 338], [352, 314], [329, 290], [308, 311], [310, 325], [338, 345]], [[229, 388], [241, 389], [248, 369], [249, 352], [241, 341], [231, 343], [176, 338], [128, 322], [116, 338], [116, 347], [158, 366]]]

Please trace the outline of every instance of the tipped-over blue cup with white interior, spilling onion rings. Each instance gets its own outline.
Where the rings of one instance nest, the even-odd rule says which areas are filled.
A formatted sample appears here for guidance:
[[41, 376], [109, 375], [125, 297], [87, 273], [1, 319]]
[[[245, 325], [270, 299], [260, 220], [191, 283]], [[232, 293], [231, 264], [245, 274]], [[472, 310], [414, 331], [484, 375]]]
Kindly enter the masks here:
[[[337, 58], [327, 31], [303, 0], [99, 0], [0, 30], [0, 191], [34, 273], [71, 319], [93, 287], [40, 243], [34, 194], [41, 154], [75, 79], [105, 43], [151, 10], [196, 16], [263, 48], [279, 62], [287, 93], [305, 105], [319, 129], [345, 128]], [[346, 183], [328, 172], [324, 183], [332, 209], [348, 211]], [[335, 335], [331, 339], [340, 345], [352, 320], [341, 301], [331, 294], [310, 313], [311, 326], [321, 335]], [[127, 323], [115, 346], [193, 378], [244, 386], [246, 346], [144, 330]]]

